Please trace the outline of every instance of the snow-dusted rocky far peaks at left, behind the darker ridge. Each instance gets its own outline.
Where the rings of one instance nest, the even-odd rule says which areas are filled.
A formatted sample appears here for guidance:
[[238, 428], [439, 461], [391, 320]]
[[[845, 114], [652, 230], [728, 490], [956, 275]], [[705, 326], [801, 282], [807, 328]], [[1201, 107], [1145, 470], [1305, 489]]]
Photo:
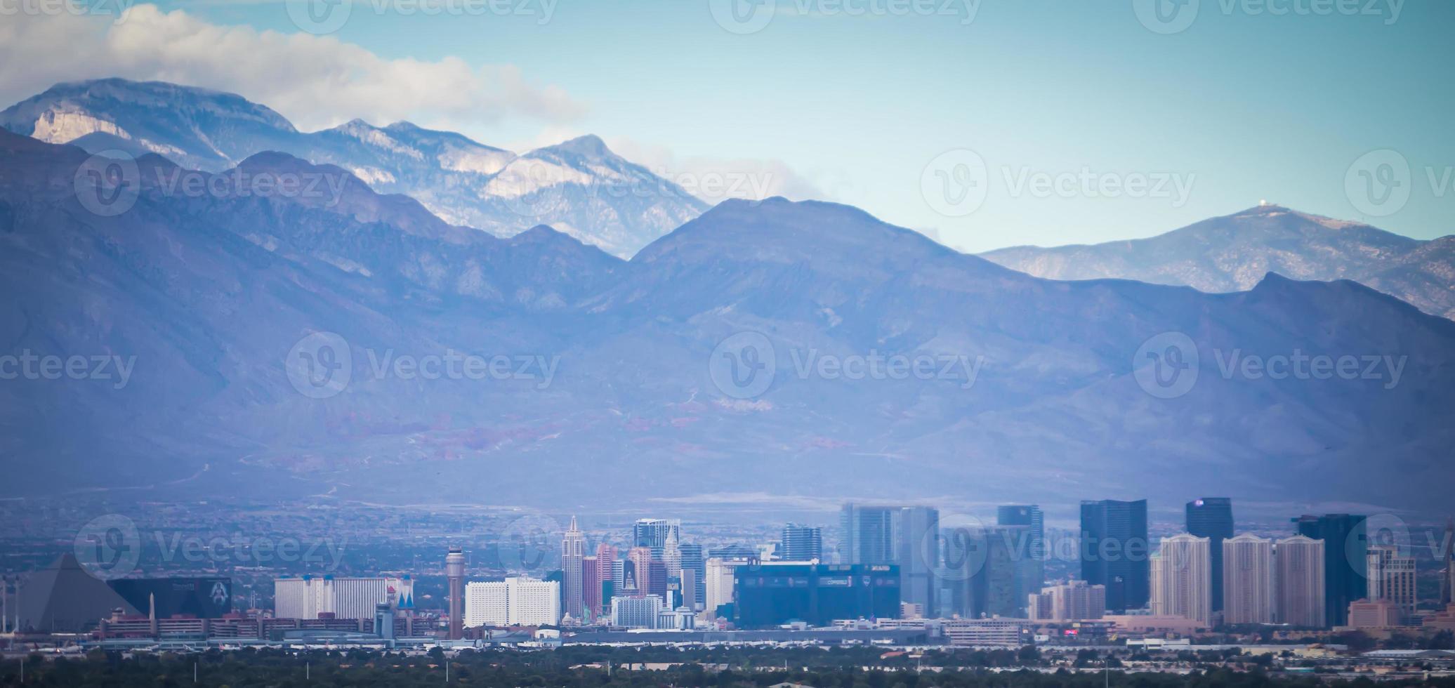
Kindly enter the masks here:
[[57, 84], [0, 112], [0, 128], [92, 153], [156, 153], [223, 172], [266, 151], [339, 166], [381, 193], [409, 195], [448, 224], [508, 237], [549, 224], [629, 257], [706, 205], [583, 137], [522, 156], [409, 122], [300, 132], [231, 93], [103, 79]]

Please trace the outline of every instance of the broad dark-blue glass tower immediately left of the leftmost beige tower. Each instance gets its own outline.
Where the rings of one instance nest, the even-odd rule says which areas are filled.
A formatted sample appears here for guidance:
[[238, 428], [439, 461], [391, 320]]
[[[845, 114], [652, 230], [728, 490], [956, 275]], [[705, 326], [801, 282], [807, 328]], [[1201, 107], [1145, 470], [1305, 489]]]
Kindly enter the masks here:
[[1106, 586], [1110, 611], [1147, 607], [1151, 564], [1145, 499], [1081, 502], [1081, 577]]

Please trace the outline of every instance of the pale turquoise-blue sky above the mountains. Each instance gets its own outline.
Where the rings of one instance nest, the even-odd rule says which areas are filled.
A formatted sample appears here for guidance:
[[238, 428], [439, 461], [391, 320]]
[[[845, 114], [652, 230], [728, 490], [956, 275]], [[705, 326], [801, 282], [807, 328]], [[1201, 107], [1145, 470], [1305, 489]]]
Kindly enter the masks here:
[[[695, 169], [773, 161], [752, 173], [962, 249], [1142, 237], [1260, 199], [1422, 239], [1455, 231], [1455, 3], [1445, 0], [1187, 0], [1183, 15], [1168, 15], [1168, 0], [1174, 23], [1152, 28], [1129, 0], [760, 0], [738, 7], [767, 17], [751, 33], [725, 29], [709, 0], [560, 0], [544, 23], [541, 0], [506, 3], [528, 15], [457, 4], [432, 17], [407, 4], [375, 12], [383, 1], [356, 0], [332, 36], [381, 58], [511, 64], [581, 103], [569, 118], [461, 125], [483, 143], [595, 132]], [[282, 3], [162, 7], [298, 33]], [[1384, 167], [1388, 156], [1350, 170], [1382, 148], [1403, 156], [1408, 179], [1400, 159]], [[952, 150], [979, 156], [984, 176], [954, 169], [965, 154], [925, 170]], [[1084, 169], [1093, 186], [1141, 175], [1152, 188], [1030, 191], [1037, 175]], [[1366, 202], [1349, 198], [1346, 179]], [[965, 183], [984, 202], [972, 195], [943, 214], [925, 199]], [[1371, 199], [1384, 201], [1375, 214]]]

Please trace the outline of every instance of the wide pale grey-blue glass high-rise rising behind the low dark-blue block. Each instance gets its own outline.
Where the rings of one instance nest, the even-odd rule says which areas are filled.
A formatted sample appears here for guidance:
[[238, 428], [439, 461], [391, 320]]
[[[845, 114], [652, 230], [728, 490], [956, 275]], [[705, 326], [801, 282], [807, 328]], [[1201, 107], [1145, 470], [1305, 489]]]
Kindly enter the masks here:
[[847, 503], [840, 515], [842, 556], [850, 564], [896, 566], [905, 602], [936, 615], [940, 566], [940, 511], [930, 506]]

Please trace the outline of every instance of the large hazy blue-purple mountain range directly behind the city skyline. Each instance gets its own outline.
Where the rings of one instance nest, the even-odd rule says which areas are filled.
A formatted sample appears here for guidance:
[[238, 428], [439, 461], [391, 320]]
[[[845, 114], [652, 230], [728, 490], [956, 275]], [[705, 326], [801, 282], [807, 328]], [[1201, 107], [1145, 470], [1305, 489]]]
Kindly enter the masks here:
[[[566, 508], [1195, 486], [1435, 511], [1455, 477], [1455, 323], [1350, 281], [1052, 281], [781, 198], [723, 202], [623, 260], [544, 225], [469, 231], [287, 153], [195, 173], [146, 153], [119, 182], [87, 160], [0, 132], [0, 355], [132, 372], [4, 380], [0, 447], [26, 470], [0, 496]], [[339, 191], [166, 182], [240, 172]], [[87, 202], [121, 186], [122, 212]], [[1280, 356], [1358, 371], [1276, 375]], [[492, 372], [425, 374], [461, 358]], [[1164, 394], [1148, 361], [1192, 384]], [[316, 393], [314, 364], [345, 384]]]

